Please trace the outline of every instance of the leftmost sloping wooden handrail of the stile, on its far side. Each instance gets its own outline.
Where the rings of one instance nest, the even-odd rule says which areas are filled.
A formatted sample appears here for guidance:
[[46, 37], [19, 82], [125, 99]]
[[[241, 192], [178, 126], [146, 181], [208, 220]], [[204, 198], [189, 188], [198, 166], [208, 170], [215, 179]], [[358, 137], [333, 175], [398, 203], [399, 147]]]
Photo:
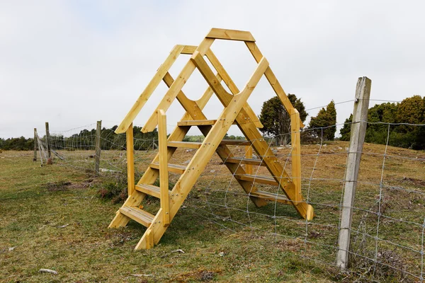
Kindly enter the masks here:
[[[164, 78], [165, 74], [169, 71], [171, 66], [176, 62], [177, 57], [181, 54], [181, 51], [184, 49], [185, 45], [176, 45], [173, 50], [171, 50], [169, 56], [165, 59], [164, 63], [159, 67], [157, 73], [154, 75], [152, 80], [149, 82], [145, 90], [140, 94], [139, 98], [137, 98], [135, 104], [132, 106], [128, 114], [125, 116], [123, 122], [115, 129], [116, 134], [120, 134], [125, 132], [130, 124], [135, 120], [137, 114], [139, 114], [140, 110], [142, 110], [143, 106], [149, 99], [149, 97], [154, 92], [155, 88], [159, 85]], [[156, 113], [155, 113], [156, 114]]]

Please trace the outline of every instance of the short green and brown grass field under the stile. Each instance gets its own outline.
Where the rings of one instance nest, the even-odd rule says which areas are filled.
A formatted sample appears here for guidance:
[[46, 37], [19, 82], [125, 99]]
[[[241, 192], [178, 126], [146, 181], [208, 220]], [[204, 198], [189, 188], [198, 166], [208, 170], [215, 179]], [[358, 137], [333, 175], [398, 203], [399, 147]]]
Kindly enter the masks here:
[[[114, 175], [95, 178], [90, 172], [55, 163], [40, 167], [32, 161], [32, 152], [4, 151], [0, 154], [0, 282], [351, 282], [359, 278], [366, 282], [372, 275], [365, 272], [369, 265], [361, 258], [353, 258], [358, 268], [343, 275], [331, 265], [302, 257], [334, 260], [347, 146], [341, 141], [302, 146], [303, 193], [316, 213], [311, 224], [288, 205], [254, 207], [225, 166], [213, 158], [159, 245], [138, 252], [133, 248], [145, 231], [143, 226], [130, 221], [124, 229], [107, 228], [121, 203], [102, 200], [98, 191], [118, 182]], [[232, 151], [240, 156], [242, 149], [235, 146]], [[288, 149], [276, 150], [285, 163]], [[385, 146], [365, 145], [353, 221], [353, 229], [360, 233], [353, 233], [353, 248], [367, 257], [375, 255], [376, 241], [368, 235], [376, 235], [378, 216], [370, 212], [380, 207], [378, 260], [397, 267], [401, 262], [402, 270], [420, 275], [421, 257], [409, 248], [421, 249], [422, 228], [415, 224], [423, 223], [425, 216], [425, 153], [390, 147], [385, 186], [380, 186], [384, 151]], [[103, 154], [111, 162], [117, 156]], [[142, 171], [154, 152], [137, 154], [137, 168]], [[183, 164], [192, 154], [179, 151], [171, 163]], [[290, 171], [290, 162], [287, 168]], [[263, 171], [258, 168], [257, 173]], [[176, 178], [171, 175], [171, 183]], [[276, 192], [276, 187], [262, 190]], [[149, 210], [159, 203], [147, 198], [144, 205]], [[184, 253], [176, 252], [179, 249]], [[375, 277], [382, 282], [405, 276], [384, 267], [375, 268]], [[40, 273], [40, 268], [58, 274]]]

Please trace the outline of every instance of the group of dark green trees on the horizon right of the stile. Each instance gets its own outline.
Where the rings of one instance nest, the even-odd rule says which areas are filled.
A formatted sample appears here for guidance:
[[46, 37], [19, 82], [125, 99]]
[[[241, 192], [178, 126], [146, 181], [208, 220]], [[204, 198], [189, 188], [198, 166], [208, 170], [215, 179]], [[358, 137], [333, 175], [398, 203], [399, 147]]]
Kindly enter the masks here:
[[[300, 112], [305, 122], [307, 112], [304, 103], [294, 94], [288, 94], [292, 105]], [[263, 103], [259, 119], [263, 124], [261, 132], [266, 137], [274, 137], [276, 144], [288, 144], [290, 141], [290, 115], [278, 97]], [[341, 140], [350, 140], [351, 114], [341, 128]], [[389, 124], [390, 123], [390, 124]], [[417, 126], [424, 125], [424, 126]], [[320, 140], [332, 141], [336, 134], [336, 108], [334, 100], [326, 108], [311, 117], [309, 125], [301, 132], [304, 143]], [[368, 127], [365, 141], [374, 144], [388, 144], [410, 149], [425, 149], [425, 97], [412, 96], [401, 103], [381, 103], [368, 111]]]

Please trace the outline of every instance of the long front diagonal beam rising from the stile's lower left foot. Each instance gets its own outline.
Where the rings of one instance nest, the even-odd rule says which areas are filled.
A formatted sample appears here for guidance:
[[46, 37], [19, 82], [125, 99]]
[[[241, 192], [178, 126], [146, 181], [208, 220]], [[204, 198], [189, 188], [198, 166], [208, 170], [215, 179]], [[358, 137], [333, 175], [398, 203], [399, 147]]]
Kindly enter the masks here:
[[[248, 83], [246, 83], [244, 90], [239, 95], [234, 96], [232, 102], [230, 102], [229, 105], [227, 105], [227, 108], [223, 110], [220, 115], [220, 119], [217, 120], [217, 124], [210, 129], [203, 141], [203, 146], [205, 147], [196, 151], [196, 154], [188, 164], [188, 170], [181, 175], [176, 185], [174, 185], [174, 188], [171, 191], [170, 220], [173, 219], [181, 207], [181, 204], [183, 204], [183, 201], [186, 199], [188, 193], [196, 183], [196, 180], [198, 180], [200, 174], [203, 172], [206, 164], [210, 161], [212, 154], [214, 154], [217, 149], [217, 144], [220, 143], [227, 133], [234, 118], [237, 117], [267, 67], [268, 62], [264, 58], [257, 66], [254, 74], [252, 74], [251, 79], [249, 79]], [[162, 213], [162, 211], [158, 212], [151, 226], [151, 229], [154, 232], [154, 243], [158, 243], [159, 239], [166, 231], [166, 227], [155, 224], [156, 219], [162, 219]], [[137, 248], [145, 248], [146, 243], [143, 243], [144, 241], [146, 242], [146, 239], [142, 237], [140, 242], [137, 244]]]

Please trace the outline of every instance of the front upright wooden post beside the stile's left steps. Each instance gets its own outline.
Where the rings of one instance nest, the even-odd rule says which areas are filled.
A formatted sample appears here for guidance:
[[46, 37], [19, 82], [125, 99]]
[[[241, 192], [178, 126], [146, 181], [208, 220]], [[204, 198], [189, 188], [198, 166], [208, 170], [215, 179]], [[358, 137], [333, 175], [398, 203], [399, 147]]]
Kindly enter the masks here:
[[162, 214], [162, 225], [169, 226], [169, 180], [168, 180], [168, 149], [166, 141], [166, 115], [164, 110], [158, 110], [158, 149], [159, 149], [159, 186]]

